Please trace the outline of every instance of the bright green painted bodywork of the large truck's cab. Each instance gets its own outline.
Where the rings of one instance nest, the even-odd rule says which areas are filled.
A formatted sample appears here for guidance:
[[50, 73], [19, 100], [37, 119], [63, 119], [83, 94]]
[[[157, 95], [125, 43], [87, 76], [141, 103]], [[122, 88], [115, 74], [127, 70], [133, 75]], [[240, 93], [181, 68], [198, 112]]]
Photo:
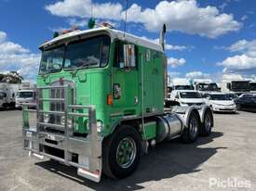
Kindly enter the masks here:
[[[126, 42], [128, 43], [128, 42]], [[61, 70], [56, 73], [38, 75], [37, 86], [47, 86], [58, 82], [60, 78], [75, 83], [75, 100], [77, 105], [95, 105], [97, 120], [103, 121], [102, 136], [112, 134], [115, 124], [129, 115], [141, 116], [141, 85], [144, 84], [143, 115], [163, 112], [164, 110], [164, 54], [141, 45], [136, 45], [137, 68], [132, 70], [119, 69], [114, 66], [115, 40], [112, 41], [108, 65], [104, 68], [84, 70]], [[149, 60], [146, 54], [150, 52]], [[143, 80], [141, 81], [141, 69]], [[107, 95], [113, 94], [113, 84], [118, 83], [121, 96], [114, 99], [114, 104], [107, 105]], [[47, 97], [47, 91], [44, 96]], [[136, 99], [138, 102], [136, 102]], [[44, 109], [48, 109], [47, 103]], [[76, 112], [88, 112], [77, 110]], [[76, 117], [74, 131], [80, 134], [88, 132], [88, 119]], [[155, 137], [155, 127], [146, 132], [146, 138]]]

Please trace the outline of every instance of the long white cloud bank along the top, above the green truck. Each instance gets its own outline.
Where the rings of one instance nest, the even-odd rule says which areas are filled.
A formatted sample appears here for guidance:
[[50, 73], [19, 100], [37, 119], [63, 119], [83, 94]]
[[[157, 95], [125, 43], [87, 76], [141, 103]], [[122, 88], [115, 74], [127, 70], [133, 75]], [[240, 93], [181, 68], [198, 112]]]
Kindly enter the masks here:
[[[63, 0], [47, 5], [46, 9], [60, 17], [91, 17], [120, 20], [125, 10], [119, 3], [92, 4], [91, 0]], [[142, 23], [146, 30], [159, 32], [163, 23], [168, 30], [216, 38], [227, 32], [238, 31], [242, 24], [232, 14], [220, 13], [216, 6], [200, 7], [196, 0], [161, 1], [155, 8], [133, 4], [128, 8], [128, 22]]]

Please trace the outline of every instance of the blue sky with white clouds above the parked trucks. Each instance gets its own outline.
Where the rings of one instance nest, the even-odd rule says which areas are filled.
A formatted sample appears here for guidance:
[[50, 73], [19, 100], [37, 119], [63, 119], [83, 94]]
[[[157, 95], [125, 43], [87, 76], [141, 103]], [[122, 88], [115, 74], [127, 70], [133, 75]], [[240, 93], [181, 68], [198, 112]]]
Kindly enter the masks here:
[[[125, 1], [0, 0], [0, 72], [19, 70], [34, 80], [38, 45], [53, 31], [79, 25], [91, 15], [123, 29]], [[168, 72], [172, 77], [212, 78], [241, 74], [256, 77], [256, 1], [128, 0], [128, 32], [157, 41], [163, 22]]]

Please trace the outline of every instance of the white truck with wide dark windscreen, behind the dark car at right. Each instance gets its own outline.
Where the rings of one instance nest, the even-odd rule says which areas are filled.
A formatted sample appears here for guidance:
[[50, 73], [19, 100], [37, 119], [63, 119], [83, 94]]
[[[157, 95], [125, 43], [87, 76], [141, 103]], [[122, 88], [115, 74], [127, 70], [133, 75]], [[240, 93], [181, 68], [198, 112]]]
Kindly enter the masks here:
[[249, 82], [244, 79], [222, 80], [222, 93], [234, 93], [237, 96], [249, 93]]

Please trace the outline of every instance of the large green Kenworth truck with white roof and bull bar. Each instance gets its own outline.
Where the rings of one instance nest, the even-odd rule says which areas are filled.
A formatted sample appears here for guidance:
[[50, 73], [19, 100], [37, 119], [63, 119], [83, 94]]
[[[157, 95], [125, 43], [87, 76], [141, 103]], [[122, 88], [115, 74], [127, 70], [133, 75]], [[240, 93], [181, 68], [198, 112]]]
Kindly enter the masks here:
[[24, 104], [22, 111], [30, 155], [74, 166], [100, 182], [102, 173], [130, 175], [149, 146], [209, 135], [209, 107], [165, 108], [164, 33], [157, 45], [100, 27], [65, 32], [41, 45], [35, 109]]

